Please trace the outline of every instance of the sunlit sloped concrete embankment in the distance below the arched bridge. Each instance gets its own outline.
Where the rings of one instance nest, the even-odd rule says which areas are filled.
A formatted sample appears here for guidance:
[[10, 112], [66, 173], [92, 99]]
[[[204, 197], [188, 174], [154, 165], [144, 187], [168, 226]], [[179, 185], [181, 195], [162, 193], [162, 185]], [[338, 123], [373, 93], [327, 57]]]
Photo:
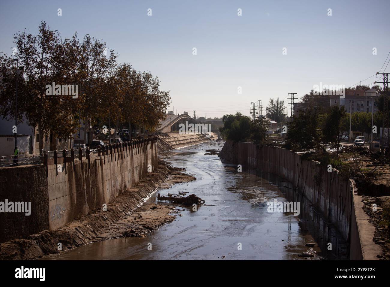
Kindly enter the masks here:
[[171, 148], [175, 149], [216, 140], [218, 135], [211, 133], [210, 137], [206, 137], [204, 134], [168, 133], [160, 134], [158, 135], [158, 138], [168, 144]]

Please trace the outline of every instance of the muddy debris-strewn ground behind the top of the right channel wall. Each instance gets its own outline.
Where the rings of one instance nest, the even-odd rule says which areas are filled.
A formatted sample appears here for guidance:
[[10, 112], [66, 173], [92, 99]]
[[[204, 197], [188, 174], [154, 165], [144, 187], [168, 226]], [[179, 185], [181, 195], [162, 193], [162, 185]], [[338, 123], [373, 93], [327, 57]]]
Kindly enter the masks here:
[[[353, 178], [363, 195], [363, 210], [375, 226], [373, 241], [381, 246], [381, 260], [390, 260], [390, 160], [389, 154], [371, 152], [365, 147], [342, 146], [339, 157], [325, 148], [302, 155], [320, 162], [323, 168], [337, 169], [344, 178]], [[321, 174], [321, 173], [320, 173]], [[316, 177], [319, 175], [315, 175]], [[321, 178], [316, 178], [319, 183]], [[375, 206], [375, 208], [374, 208]]]

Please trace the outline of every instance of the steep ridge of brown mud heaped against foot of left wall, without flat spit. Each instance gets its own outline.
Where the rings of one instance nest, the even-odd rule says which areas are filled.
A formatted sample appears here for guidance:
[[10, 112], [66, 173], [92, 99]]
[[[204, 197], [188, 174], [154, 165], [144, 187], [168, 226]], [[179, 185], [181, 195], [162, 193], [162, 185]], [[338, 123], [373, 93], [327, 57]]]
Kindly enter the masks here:
[[[106, 239], [107, 230], [113, 226], [113, 223], [140, 207], [170, 173], [167, 166], [159, 165], [156, 171], [145, 176], [135, 186], [120, 193], [112, 203], [108, 203], [107, 210], [95, 209], [56, 230], [44, 230], [27, 236], [25, 239], [14, 239], [0, 244], [0, 260], [31, 260]], [[154, 227], [163, 225], [167, 220], [172, 221], [174, 217], [171, 217], [170, 219], [162, 218], [157, 225], [154, 223]], [[131, 232], [133, 227], [129, 225], [126, 232]], [[131, 236], [134, 235], [137, 234], [131, 234]], [[122, 234], [122, 236], [129, 235]], [[61, 250], [58, 250], [58, 243], [61, 244]]]

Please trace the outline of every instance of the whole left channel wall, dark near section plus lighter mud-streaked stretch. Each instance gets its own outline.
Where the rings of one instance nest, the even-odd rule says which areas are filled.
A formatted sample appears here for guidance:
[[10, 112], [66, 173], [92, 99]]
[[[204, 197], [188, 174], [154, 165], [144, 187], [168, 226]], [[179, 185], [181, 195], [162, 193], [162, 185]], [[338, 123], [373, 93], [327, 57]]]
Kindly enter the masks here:
[[[58, 152], [59, 153], [59, 152]], [[0, 243], [55, 230], [93, 209], [157, 168], [157, 139], [106, 145], [81, 160], [47, 159], [44, 165], [0, 169], [0, 201], [31, 201], [31, 215], [0, 212]]]

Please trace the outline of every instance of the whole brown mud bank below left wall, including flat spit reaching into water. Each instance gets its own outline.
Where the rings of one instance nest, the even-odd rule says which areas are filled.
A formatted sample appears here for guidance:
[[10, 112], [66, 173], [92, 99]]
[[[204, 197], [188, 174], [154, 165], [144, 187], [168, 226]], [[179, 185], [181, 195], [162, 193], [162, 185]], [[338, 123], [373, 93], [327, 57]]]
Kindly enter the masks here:
[[[175, 216], [171, 215], [174, 213], [171, 207], [142, 204], [158, 188], [192, 180], [195, 180], [193, 176], [185, 175], [160, 161], [156, 171], [120, 193], [115, 200], [107, 204], [106, 211], [95, 209], [56, 230], [44, 230], [25, 239], [4, 242], [0, 244], [0, 260], [32, 260], [90, 242], [142, 236], [175, 219]], [[61, 250], [58, 250], [59, 246], [62, 247]]]

